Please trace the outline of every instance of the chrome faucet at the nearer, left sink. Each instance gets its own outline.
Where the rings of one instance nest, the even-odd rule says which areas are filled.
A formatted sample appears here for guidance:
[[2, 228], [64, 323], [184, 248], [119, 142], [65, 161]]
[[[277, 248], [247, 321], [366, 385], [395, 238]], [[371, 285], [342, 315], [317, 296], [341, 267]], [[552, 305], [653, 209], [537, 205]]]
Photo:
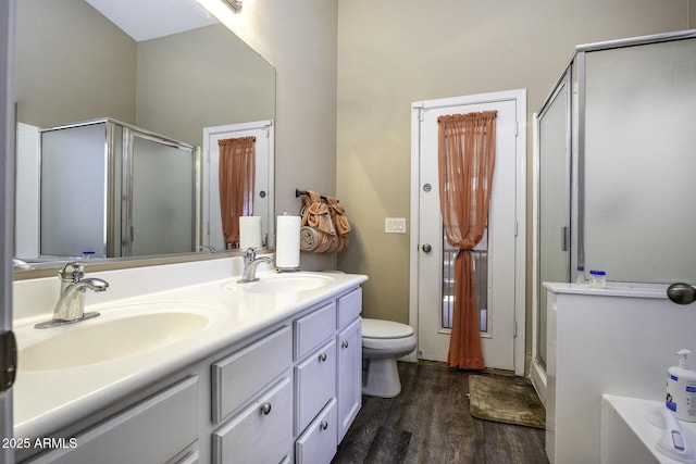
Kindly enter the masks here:
[[53, 318], [35, 325], [36, 328], [49, 328], [73, 324], [97, 317], [99, 313], [85, 313], [85, 291], [105, 291], [109, 284], [100, 278], [85, 278], [85, 265], [79, 262], [65, 264], [58, 273], [61, 280], [61, 293]]

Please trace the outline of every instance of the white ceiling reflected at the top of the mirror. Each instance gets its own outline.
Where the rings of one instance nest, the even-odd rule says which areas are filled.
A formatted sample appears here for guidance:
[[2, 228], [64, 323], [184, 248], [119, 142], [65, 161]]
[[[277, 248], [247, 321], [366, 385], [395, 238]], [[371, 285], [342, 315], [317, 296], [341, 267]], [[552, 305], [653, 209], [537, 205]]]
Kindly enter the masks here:
[[136, 41], [217, 23], [196, 0], [86, 0]]

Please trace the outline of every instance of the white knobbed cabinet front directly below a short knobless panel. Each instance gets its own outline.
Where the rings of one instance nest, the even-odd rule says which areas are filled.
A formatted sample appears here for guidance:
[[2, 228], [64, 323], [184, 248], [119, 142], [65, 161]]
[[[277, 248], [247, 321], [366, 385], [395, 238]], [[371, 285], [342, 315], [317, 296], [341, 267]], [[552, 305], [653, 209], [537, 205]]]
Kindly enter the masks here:
[[213, 431], [213, 463], [279, 463], [293, 453], [293, 384], [283, 378]]

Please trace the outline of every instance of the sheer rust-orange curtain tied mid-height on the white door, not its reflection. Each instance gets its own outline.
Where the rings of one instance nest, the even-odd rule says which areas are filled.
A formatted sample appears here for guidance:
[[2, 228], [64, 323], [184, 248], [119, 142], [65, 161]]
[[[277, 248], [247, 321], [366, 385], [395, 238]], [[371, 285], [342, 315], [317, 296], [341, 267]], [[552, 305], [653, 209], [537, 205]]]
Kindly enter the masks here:
[[483, 238], [495, 168], [496, 111], [440, 116], [437, 162], [447, 242], [457, 248], [452, 331], [447, 362], [483, 369], [471, 249]]

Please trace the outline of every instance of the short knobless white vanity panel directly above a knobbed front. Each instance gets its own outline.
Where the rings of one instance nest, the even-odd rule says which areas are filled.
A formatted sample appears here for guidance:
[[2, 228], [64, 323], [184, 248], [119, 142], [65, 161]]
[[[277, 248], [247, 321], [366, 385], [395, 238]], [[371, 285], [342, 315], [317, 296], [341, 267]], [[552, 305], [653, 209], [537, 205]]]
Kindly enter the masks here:
[[212, 421], [219, 424], [293, 364], [288, 326], [212, 364]]

